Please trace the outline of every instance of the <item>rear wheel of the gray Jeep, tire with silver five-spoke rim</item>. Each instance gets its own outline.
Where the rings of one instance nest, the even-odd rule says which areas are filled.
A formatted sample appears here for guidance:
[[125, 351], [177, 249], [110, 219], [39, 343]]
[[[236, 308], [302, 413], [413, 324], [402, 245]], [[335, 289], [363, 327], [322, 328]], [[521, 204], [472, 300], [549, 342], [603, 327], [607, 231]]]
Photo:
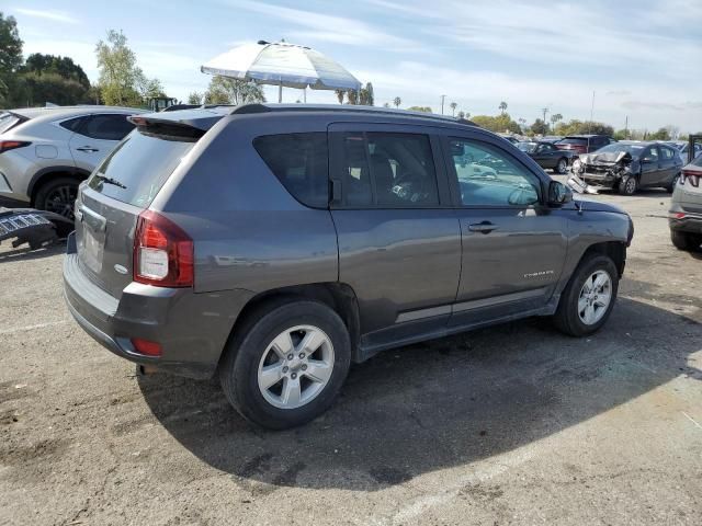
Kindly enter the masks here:
[[284, 430], [331, 405], [351, 363], [349, 332], [333, 310], [291, 299], [259, 309], [237, 332], [219, 380], [245, 419]]

